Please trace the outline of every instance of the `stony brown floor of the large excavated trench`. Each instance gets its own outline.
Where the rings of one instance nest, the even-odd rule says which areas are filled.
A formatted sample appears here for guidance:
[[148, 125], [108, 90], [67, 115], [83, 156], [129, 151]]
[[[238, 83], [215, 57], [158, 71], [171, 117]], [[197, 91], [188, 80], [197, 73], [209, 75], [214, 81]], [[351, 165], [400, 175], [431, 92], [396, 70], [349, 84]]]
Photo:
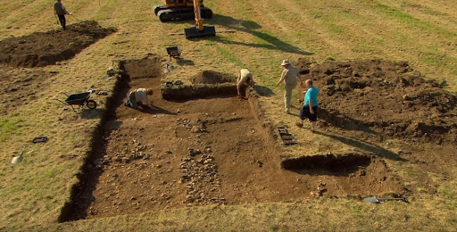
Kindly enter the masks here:
[[[126, 73], [144, 67], [135, 62], [124, 66]], [[337, 170], [282, 170], [270, 135], [249, 102], [236, 96], [169, 102], [158, 94], [159, 73], [145, 71], [144, 78], [131, 79], [121, 89], [123, 102], [129, 89], [153, 88], [152, 105], [134, 110], [117, 104], [68, 220], [212, 203], [403, 191], [378, 158]]]

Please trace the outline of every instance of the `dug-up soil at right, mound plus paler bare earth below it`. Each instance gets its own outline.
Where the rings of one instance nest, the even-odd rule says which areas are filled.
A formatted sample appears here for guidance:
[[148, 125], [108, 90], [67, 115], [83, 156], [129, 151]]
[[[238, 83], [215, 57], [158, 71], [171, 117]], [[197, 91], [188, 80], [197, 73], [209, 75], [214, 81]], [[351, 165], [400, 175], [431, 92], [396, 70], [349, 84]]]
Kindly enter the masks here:
[[300, 59], [297, 67], [320, 89], [318, 132], [337, 133], [334, 138], [349, 145], [357, 146], [357, 139], [389, 149], [377, 154], [402, 163], [411, 191], [436, 194], [453, 178], [457, 97], [445, 83], [424, 79], [407, 62]]

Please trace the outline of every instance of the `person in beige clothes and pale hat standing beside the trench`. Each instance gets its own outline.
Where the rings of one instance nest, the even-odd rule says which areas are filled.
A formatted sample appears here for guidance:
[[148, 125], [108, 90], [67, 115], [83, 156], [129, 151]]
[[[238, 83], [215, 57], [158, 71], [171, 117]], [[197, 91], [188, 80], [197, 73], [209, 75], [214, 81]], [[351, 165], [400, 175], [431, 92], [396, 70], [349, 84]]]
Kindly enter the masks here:
[[297, 83], [300, 80], [300, 71], [295, 68], [288, 60], [284, 60], [281, 63], [281, 66], [284, 67], [282, 70], [281, 78], [279, 78], [277, 85], [282, 83], [283, 81], [286, 82], [285, 88], [286, 91], [284, 92], [284, 104], [286, 110], [284, 112], [290, 112], [290, 102], [292, 98], [292, 90], [296, 87]]

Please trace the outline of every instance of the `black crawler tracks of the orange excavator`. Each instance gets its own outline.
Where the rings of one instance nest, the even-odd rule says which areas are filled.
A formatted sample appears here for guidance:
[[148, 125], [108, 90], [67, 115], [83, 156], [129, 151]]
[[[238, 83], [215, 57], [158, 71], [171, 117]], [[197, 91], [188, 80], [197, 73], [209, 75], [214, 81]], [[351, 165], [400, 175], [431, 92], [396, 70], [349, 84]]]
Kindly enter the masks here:
[[[155, 5], [154, 14], [157, 15], [160, 21], [187, 21], [195, 18], [194, 8], [192, 7], [166, 7], [164, 5]], [[201, 7], [202, 18], [211, 19], [212, 10], [210, 8]]]

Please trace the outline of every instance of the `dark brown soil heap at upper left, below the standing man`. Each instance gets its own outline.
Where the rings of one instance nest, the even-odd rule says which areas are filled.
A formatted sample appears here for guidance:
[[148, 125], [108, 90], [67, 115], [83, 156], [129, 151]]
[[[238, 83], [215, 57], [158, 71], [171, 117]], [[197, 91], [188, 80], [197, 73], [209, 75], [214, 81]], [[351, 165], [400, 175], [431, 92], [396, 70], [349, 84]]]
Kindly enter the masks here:
[[0, 41], [0, 63], [13, 67], [43, 67], [69, 60], [98, 39], [115, 32], [104, 29], [96, 21], [82, 21], [66, 30], [35, 32], [24, 37]]

